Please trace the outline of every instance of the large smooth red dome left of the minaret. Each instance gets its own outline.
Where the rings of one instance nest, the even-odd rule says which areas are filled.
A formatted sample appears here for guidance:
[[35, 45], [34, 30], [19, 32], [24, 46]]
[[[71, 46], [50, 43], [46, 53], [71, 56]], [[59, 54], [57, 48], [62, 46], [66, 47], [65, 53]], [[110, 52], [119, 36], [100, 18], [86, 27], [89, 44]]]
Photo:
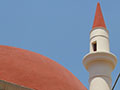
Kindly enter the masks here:
[[0, 46], [0, 80], [36, 90], [87, 90], [67, 69], [28, 50]]

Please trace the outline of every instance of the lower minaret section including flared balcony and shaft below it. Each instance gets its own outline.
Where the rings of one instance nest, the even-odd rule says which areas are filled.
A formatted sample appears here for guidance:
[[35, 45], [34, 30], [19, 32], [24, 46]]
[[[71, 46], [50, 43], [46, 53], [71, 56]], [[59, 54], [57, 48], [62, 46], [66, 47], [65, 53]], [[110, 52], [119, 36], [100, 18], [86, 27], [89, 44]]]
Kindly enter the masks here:
[[83, 64], [89, 72], [89, 90], [111, 90], [111, 73], [117, 64], [112, 53], [89, 53], [84, 57]]

